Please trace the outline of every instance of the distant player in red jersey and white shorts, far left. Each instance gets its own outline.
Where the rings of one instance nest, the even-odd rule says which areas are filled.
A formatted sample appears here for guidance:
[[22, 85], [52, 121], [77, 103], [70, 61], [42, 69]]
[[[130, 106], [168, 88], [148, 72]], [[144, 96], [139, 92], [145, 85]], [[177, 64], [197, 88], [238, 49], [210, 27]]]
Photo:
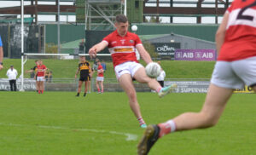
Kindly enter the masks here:
[[37, 73], [35, 78], [37, 77], [38, 81], [38, 94], [44, 93], [44, 81], [45, 81], [45, 72], [47, 68], [43, 64], [43, 60], [38, 60]]

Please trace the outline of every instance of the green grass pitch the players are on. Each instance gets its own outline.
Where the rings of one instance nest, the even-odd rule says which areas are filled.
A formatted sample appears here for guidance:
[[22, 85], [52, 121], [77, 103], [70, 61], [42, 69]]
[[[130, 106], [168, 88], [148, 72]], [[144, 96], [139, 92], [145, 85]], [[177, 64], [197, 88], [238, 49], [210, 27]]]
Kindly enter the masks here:
[[[143, 134], [125, 93], [0, 92], [0, 154], [134, 155]], [[205, 94], [138, 93], [143, 118], [160, 123], [182, 112], [198, 112]], [[256, 95], [233, 95], [218, 125], [166, 135], [151, 155], [253, 155]], [[136, 141], [126, 141], [127, 135]]]

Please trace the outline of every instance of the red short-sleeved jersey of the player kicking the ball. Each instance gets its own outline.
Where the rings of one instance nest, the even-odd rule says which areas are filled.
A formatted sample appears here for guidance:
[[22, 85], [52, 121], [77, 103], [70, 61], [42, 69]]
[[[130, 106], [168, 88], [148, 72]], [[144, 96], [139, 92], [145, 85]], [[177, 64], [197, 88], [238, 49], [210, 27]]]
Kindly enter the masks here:
[[136, 61], [136, 47], [143, 45], [141, 39], [135, 33], [127, 32], [125, 37], [119, 36], [117, 31], [104, 37], [102, 42], [108, 43], [108, 50], [113, 60], [113, 67], [127, 61]]

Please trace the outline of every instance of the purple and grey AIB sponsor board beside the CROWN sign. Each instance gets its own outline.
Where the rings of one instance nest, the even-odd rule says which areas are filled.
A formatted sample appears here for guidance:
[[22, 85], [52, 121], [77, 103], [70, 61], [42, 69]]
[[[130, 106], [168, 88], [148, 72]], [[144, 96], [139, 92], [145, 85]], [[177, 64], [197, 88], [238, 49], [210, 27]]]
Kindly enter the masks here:
[[216, 60], [215, 49], [176, 49], [175, 60]]

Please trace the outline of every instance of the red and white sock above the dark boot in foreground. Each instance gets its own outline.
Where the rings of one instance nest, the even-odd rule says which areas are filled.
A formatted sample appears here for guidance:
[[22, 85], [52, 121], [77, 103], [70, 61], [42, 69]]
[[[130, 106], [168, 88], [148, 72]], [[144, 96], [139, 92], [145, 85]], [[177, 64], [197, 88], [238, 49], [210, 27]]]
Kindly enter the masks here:
[[159, 137], [174, 132], [176, 129], [176, 124], [172, 120], [169, 120], [166, 123], [160, 123], [158, 126], [160, 127]]

